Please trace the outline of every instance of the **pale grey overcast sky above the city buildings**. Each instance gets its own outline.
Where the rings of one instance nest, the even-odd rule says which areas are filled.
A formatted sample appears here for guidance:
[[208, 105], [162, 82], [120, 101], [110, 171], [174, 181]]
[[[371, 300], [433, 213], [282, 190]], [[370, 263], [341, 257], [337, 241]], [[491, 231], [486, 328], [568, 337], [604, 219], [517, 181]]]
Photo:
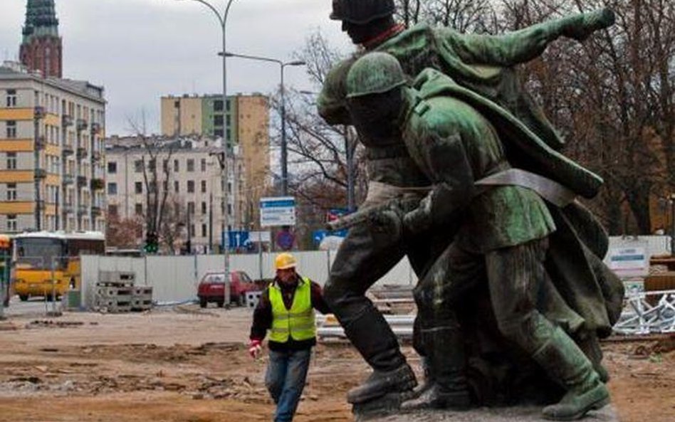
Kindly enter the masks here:
[[[209, 0], [220, 11], [226, 0]], [[0, 0], [0, 58], [16, 60], [26, 0]], [[233, 53], [291, 59], [305, 37], [320, 28], [330, 43], [352, 46], [330, 0], [234, 0], [227, 23]], [[213, 12], [192, 0], [56, 0], [63, 37], [63, 76], [105, 86], [108, 134], [127, 134], [127, 117], [145, 110], [148, 129], [159, 132], [159, 97], [221, 93], [221, 28]], [[285, 70], [286, 86], [316, 90], [303, 68]], [[273, 63], [231, 58], [228, 94], [272, 93], [279, 83]]]

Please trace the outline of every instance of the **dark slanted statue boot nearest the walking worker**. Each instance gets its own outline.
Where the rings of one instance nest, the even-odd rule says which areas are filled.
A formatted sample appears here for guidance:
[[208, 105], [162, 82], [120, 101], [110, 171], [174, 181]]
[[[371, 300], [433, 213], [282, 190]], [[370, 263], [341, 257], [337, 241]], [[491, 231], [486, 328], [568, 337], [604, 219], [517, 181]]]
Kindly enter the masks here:
[[367, 307], [344, 328], [354, 347], [373, 368], [363, 384], [347, 393], [349, 403], [364, 403], [389, 393], [412, 391], [417, 386], [394, 332], [375, 307]]

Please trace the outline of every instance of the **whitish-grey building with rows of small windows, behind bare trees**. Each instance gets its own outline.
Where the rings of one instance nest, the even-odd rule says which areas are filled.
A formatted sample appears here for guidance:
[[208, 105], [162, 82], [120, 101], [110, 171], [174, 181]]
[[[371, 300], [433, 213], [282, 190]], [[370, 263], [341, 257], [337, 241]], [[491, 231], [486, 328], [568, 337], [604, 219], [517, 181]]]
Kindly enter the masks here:
[[[141, 218], [148, 210], [148, 190], [159, 196], [167, 192], [169, 228], [189, 229], [194, 250], [218, 250], [225, 231], [225, 212], [229, 230], [246, 225], [243, 196], [235, 195], [246, 186], [238, 149], [228, 162], [227, 206], [221, 169], [221, 139], [209, 137], [110, 137], [106, 139], [106, 193], [108, 214], [119, 218]], [[157, 183], [153, 176], [157, 174]], [[235, 178], [235, 174], [237, 177]], [[150, 199], [152, 203], [154, 199]], [[179, 218], [179, 220], [176, 220]], [[159, 236], [164, 236], [160, 228]], [[187, 230], [181, 234], [187, 240]], [[140, 241], [140, 239], [139, 239]]]

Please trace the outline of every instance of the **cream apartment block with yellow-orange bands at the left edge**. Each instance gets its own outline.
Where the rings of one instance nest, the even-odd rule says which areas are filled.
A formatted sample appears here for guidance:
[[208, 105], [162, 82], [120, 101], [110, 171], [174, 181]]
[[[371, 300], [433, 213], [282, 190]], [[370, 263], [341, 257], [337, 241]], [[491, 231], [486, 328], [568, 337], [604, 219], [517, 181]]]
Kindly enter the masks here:
[[85, 81], [0, 67], [0, 231], [105, 231], [105, 99]]

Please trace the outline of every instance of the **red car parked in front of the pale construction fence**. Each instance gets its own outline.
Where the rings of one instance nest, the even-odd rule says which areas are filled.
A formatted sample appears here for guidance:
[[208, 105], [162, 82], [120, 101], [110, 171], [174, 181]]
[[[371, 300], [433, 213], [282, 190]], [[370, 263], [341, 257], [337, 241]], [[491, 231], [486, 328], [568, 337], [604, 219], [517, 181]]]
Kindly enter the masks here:
[[[230, 275], [230, 301], [232, 303], [243, 304], [248, 290], [262, 290], [244, 271], [231, 271]], [[197, 288], [199, 306], [206, 307], [209, 302], [216, 302], [219, 307], [223, 307], [225, 303], [224, 280], [225, 273], [204, 274]]]

